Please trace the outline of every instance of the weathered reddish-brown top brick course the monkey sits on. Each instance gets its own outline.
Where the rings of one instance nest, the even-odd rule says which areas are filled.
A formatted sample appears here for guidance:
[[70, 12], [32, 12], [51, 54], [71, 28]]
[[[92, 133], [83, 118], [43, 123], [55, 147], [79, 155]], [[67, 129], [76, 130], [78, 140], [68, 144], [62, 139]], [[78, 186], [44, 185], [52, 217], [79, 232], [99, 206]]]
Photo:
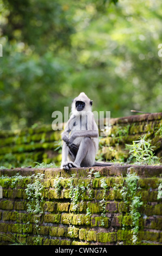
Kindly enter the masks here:
[[68, 172], [59, 168], [14, 168], [14, 169], [2, 169], [0, 175], [13, 176], [19, 173], [22, 176], [30, 176], [36, 173], [45, 174], [45, 178], [62, 176], [64, 178], [70, 178], [71, 174], [76, 174], [77, 178], [86, 177], [89, 174], [90, 169], [94, 169], [95, 172], [99, 172], [104, 176], [126, 176], [127, 172], [136, 172], [142, 177], [160, 177], [162, 173], [162, 165], [160, 166], [136, 166], [130, 164], [114, 164], [108, 167], [84, 167], [84, 168], [72, 168]]

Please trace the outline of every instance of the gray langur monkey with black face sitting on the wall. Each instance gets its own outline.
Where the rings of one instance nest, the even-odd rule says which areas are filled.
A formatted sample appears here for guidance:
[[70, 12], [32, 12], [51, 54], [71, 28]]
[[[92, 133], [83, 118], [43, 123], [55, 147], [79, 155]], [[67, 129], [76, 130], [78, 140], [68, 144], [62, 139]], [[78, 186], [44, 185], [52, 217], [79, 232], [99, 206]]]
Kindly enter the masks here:
[[61, 168], [111, 166], [95, 162], [98, 150], [98, 127], [91, 110], [92, 100], [80, 93], [72, 102], [72, 115], [61, 135], [63, 139]]

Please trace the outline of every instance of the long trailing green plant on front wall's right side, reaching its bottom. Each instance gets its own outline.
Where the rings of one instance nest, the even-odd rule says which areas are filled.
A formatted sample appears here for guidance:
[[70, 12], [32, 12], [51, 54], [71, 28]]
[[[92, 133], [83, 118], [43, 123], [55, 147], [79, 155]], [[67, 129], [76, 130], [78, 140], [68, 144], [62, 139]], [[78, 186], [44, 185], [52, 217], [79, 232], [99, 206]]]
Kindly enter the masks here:
[[[137, 235], [139, 231], [139, 218], [141, 216], [139, 212], [140, 206], [143, 204], [141, 202], [141, 196], [137, 195], [140, 187], [138, 186], [139, 176], [136, 173], [128, 173], [125, 179], [125, 186], [121, 189], [121, 194], [126, 203], [128, 209], [130, 209], [130, 216], [132, 218], [132, 233], [133, 233], [133, 244], [135, 245], [137, 241]], [[124, 225], [123, 225], [124, 229]]]

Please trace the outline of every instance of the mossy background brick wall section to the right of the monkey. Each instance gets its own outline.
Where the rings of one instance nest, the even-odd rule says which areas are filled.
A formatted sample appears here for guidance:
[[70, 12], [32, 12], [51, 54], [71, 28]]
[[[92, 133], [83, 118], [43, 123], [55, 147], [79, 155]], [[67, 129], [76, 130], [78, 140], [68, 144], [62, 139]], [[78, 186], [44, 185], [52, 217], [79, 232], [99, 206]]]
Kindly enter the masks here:
[[[126, 161], [128, 150], [125, 144], [132, 144], [139, 137], [146, 136], [154, 146], [154, 153], [162, 157], [162, 113], [130, 115], [123, 118], [111, 118], [109, 136], [100, 140], [99, 154], [103, 160], [116, 159]], [[162, 161], [162, 159], [160, 160]]]

